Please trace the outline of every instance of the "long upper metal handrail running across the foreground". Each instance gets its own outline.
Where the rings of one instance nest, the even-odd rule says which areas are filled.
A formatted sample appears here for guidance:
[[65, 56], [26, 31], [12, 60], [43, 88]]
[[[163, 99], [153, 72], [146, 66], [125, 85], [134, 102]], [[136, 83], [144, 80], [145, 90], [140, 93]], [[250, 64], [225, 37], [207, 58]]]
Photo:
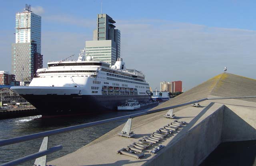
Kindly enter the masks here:
[[38, 133], [34, 133], [34, 134], [9, 138], [9, 139], [5, 139], [5, 140], [0, 140], [0, 146], [6, 146], [6, 145], [10, 145], [10, 144], [15, 144], [15, 143], [19, 143], [19, 142], [34, 140], [34, 139], [37, 139], [37, 138], [42, 138], [42, 137], [45, 137], [45, 136], [51, 136], [51, 135], [60, 134], [60, 133], [64, 133], [64, 132], [79, 130], [79, 129], [82, 129], [82, 128], [87, 128], [87, 127], [90, 127], [90, 126], [96, 126], [96, 125], [99, 125], [99, 124], [116, 122], [116, 121], [121, 121], [121, 120], [124, 120], [124, 119], [140, 117], [142, 115], [148, 115], [148, 114], [157, 113], [157, 112], [168, 110], [168, 109], [174, 109], [174, 108], [182, 107], [182, 106], [185, 106], [185, 105], [190, 105], [190, 104], [193, 104], [193, 103], [202, 102], [202, 101], [205, 101], [205, 100], [242, 99], [242, 98], [256, 98], [256, 96], [203, 98], [203, 99], [200, 99], [200, 100], [191, 101], [191, 102], [183, 103], [183, 104], [180, 104], [180, 105], [174, 105], [174, 106], [171, 106], [171, 107], [165, 107], [165, 108], [162, 108], [162, 109], [155, 109], [155, 110], [152, 110], [152, 111], [146, 111], [146, 112], [136, 113], [136, 114], [132, 114], [132, 115], [125, 115], [125, 116], [122, 116], [122, 117], [116, 117], [116, 118], [112, 118], [112, 119], [105, 119], [105, 120], [102, 120], [102, 121], [96, 121], [96, 122], [85, 123], [85, 124], [78, 124], [76, 126], [59, 128], [59, 129], [55, 129], [55, 130], [49, 130], [49, 131], [38, 132]]

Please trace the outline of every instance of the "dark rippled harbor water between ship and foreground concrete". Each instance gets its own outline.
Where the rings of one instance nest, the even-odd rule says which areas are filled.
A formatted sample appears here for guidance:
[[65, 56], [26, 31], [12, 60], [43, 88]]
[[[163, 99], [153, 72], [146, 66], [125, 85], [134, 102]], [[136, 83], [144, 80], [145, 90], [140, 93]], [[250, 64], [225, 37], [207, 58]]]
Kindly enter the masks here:
[[[23, 136], [27, 134], [33, 134], [37, 132], [43, 132], [48, 130], [54, 130], [58, 128], [74, 126], [78, 124], [90, 123], [94, 121], [101, 121], [104, 119], [110, 119], [114, 117], [120, 117], [124, 115], [140, 113], [148, 111], [149, 109], [139, 111], [119, 111], [109, 112], [100, 115], [84, 115], [84, 116], [70, 116], [70, 117], [54, 117], [54, 118], [41, 118], [41, 115], [32, 117], [23, 117], [16, 119], [4, 119], [0, 120], [0, 140], [13, 138], [17, 136]], [[96, 138], [99, 138], [106, 132], [116, 128], [124, 121], [118, 121], [114, 123], [107, 123], [72, 132], [66, 132], [54, 136], [50, 136], [48, 139], [48, 148], [62, 145], [63, 149], [49, 154], [47, 156], [48, 161], [64, 156], [71, 152], [74, 152], [92, 142]], [[38, 152], [43, 138], [36, 140], [30, 140], [17, 144], [7, 145], [0, 147], [0, 164], [27, 156], [32, 153]], [[34, 161], [26, 162], [23, 166], [33, 165]]]

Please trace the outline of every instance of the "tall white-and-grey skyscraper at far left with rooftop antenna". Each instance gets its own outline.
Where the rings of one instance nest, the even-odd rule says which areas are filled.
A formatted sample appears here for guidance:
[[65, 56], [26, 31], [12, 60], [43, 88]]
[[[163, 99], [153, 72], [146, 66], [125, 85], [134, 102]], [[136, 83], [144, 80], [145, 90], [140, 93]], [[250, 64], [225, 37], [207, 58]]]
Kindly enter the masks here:
[[26, 4], [26, 11], [16, 14], [16, 40], [12, 44], [12, 73], [17, 81], [30, 81], [43, 67], [41, 55], [41, 16]]

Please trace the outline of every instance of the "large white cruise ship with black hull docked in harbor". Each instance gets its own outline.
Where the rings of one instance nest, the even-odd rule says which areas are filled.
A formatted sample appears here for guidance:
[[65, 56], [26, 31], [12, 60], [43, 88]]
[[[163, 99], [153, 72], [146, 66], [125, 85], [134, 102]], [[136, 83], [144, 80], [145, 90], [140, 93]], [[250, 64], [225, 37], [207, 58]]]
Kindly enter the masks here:
[[109, 63], [79, 55], [77, 61], [48, 62], [29, 86], [11, 87], [42, 115], [97, 114], [115, 111], [127, 99], [148, 101], [145, 75], [126, 69], [124, 61]]

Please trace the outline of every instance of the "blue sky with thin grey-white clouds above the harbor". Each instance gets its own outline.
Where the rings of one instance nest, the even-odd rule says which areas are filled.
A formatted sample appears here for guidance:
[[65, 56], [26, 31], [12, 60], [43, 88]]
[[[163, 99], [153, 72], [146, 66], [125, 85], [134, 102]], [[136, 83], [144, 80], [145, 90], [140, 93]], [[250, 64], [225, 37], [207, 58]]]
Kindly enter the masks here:
[[[92, 40], [100, 0], [2, 2], [0, 70], [11, 71], [16, 12], [31, 4], [42, 16], [44, 65], [78, 55]], [[103, 0], [121, 30], [121, 57], [142, 70], [152, 88], [182, 80], [186, 90], [223, 72], [256, 78], [256, 1]], [[194, 75], [200, 75], [195, 79]]]

